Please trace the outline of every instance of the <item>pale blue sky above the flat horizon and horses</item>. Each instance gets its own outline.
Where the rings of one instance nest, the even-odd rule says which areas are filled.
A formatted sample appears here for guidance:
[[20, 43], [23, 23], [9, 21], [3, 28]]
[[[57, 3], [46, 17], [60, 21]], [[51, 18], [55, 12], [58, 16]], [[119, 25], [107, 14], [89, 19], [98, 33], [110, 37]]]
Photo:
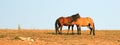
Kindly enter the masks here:
[[[120, 0], [0, 0], [0, 28], [54, 29], [61, 16], [91, 17], [96, 29], [120, 29]], [[67, 29], [66, 27], [64, 27]]]

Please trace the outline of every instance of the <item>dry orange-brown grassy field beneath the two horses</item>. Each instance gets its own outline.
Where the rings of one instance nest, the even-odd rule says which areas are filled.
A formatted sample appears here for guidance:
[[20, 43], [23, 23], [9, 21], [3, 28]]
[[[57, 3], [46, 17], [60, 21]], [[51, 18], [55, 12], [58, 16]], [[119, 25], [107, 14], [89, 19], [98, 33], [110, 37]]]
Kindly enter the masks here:
[[[0, 45], [120, 45], [120, 30], [96, 30], [96, 35], [89, 35], [89, 30], [82, 30], [81, 35], [54, 34], [54, 30], [10, 30], [0, 29]], [[22, 41], [18, 37], [31, 37], [35, 41]]]

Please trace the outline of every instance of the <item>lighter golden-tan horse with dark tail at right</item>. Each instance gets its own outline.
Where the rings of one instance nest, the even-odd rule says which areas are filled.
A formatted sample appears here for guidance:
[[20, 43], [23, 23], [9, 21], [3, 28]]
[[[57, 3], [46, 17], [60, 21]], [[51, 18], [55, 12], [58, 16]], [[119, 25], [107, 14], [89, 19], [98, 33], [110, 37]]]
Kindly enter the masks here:
[[72, 24], [76, 24], [77, 26], [77, 33], [81, 34], [81, 27], [88, 27], [90, 29], [90, 35], [93, 32], [95, 35], [95, 26], [93, 19], [90, 17], [79, 17], [76, 19], [76, 22], [72, 22]]

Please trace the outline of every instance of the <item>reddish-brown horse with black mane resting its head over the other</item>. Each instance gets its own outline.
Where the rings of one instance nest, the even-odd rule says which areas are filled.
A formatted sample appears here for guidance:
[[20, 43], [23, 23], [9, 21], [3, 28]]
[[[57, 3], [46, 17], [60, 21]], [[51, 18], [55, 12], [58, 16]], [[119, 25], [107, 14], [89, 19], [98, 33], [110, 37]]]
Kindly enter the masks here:
[[[70, 26], [72, 26], [72, 34], [73, 34], [73, 27], [74, 24], [71, 24], [72, 22], [76, 21], [77, 18], [79, 18], [79, 14], [75, 14], [72, 16], [68, 16], [68, 17], [59, 17], [56, 21], [55, 21], [55, 32], [56, 34], [62, 34], [62, 27], [63, 26], [68, 26], [68, 32], [70, 29]], [[60, 31], [59, 31], [60, 28]], [[67, 34], [68, 34], [67, 32]]]

